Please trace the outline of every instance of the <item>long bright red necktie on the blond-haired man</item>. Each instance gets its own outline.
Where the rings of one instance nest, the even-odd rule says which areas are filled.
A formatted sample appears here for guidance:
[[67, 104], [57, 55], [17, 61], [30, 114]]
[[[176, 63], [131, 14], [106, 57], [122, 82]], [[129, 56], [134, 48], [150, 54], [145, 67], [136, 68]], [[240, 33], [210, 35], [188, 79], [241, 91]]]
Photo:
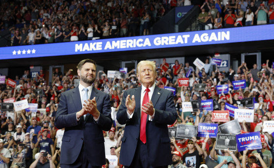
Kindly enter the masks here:
[[[146, 93], [143, 98], [142, 106], [146, 104], [149, 101], [149, 96], [148, 93], [150, 90], [146, 88]], [[146, 143], [146, 119], [147, 119], [147, 114], [145, 114], [143, 111], [141, 112], [141, 127], [140, 127], [140, 140], [144, 144]]]

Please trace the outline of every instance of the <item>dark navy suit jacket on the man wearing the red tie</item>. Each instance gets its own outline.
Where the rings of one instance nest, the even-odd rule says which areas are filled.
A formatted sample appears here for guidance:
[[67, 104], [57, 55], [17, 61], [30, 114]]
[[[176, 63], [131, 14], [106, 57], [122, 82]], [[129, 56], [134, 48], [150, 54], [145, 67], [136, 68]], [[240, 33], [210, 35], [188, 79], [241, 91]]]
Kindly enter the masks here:
[[[131, 119], [128, 119], [125, 106], [128, 95], [134, 95], [136, 101], [134, 115]], [[141, 87], [125, 91], [123, 102], [117, 112], [117, 121], [120, 124], [126, 124], [120, 151], [120, 163], [125, 166], [130, 166], [132, 163], [140, 135], [140, 100]], [[151, 101], [155, 108], [155, 115], [152, 121], [148, 120], [148, 116], [146, 123], [148, 162], [153, 167], [171, 165], [172, 157], [167, 125], [173, 124], [178, 116], [173, 94], [155, 86]]]

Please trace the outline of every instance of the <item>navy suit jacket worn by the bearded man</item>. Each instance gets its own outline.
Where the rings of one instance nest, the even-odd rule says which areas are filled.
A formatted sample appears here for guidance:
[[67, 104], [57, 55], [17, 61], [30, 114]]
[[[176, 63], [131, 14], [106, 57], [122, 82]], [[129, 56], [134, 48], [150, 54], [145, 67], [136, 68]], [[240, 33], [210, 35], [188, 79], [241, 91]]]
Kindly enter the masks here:
[[92, 87], [91, 97], [95, 97], [97, 109], [100, 112], [96, 122], [89, 113], [86, 119], [82, 116], [76, 119], [76, 112], [82, 109], [79, 88], [61, 94], [55, 118], [58, 129], [66, 128], [62, 139], [61, 164], [72, 164], [76, 161], [82, 144], [92, 166], [102, 166], [106, 163], [103, 130], [109, 131], [112, 126], [110, 96]]

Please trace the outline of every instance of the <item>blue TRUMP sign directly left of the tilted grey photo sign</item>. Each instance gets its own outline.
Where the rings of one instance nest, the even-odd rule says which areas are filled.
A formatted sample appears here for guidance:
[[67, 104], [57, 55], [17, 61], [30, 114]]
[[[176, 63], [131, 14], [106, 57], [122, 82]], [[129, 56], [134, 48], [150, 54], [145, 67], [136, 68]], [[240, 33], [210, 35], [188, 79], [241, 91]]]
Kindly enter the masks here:
[[203, 123], [199, 122], [198, 125], [198, 137], [216, 138], [218, 132], [217, 123]]

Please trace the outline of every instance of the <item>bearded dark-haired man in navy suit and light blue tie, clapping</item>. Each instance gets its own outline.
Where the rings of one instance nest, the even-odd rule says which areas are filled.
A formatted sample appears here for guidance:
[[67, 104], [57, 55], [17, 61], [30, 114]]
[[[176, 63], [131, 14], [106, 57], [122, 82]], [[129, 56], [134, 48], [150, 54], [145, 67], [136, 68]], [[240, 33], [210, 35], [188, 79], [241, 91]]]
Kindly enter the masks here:
[[61, 94], [55, 126], [65, 128], [61, 168], [101, 168], [106, 164], [103, 130], [112, 126], [110, 96], [92, 87], [96, 64], [91, 59], [77, 66], [79, 86]]

